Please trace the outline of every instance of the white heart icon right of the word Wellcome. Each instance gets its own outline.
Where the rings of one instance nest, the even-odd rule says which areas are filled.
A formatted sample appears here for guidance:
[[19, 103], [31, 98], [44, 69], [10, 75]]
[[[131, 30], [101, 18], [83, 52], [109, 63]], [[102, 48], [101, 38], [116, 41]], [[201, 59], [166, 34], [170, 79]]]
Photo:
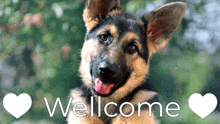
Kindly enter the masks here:
[[204, 96], [195, 93], [191, 95], [188, 100], [190, 109], [201, 118], [205, 118], [212, 113], [217, 106], [217, 102], [217, 98], [211, 93], [207, 93]]

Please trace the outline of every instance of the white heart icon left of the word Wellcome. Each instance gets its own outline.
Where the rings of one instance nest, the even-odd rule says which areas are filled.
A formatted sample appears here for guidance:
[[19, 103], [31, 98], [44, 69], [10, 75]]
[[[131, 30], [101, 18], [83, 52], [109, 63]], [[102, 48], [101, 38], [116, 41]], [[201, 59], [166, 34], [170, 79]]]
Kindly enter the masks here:
[[4, 97], [3, 105], [10, 114], [19, 118], [31, 108], [32, 100], [26, 93], [22, 93], [19, 96], [9, 93]]

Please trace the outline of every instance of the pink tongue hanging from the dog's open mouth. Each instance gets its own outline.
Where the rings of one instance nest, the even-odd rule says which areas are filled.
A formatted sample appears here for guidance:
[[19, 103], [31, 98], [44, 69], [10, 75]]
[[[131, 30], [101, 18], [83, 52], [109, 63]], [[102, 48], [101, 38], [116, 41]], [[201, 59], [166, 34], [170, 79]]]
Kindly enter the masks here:
[[100, 79], [95, 80], [95, 91], [100, 94], [109, 94], [111, 88], [114, 86], [114, 84], [103, 84]]

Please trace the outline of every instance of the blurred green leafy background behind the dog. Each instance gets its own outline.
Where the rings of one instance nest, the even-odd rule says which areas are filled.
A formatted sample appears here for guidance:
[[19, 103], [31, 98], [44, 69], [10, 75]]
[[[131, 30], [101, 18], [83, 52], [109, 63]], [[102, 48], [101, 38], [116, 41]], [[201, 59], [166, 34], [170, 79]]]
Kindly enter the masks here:
[[[123, 11], [142, 16], [176, 0], [121, 0]], [[180, 105], [179, 116], [163, 110], [161, 124], [220, 124], [220, 106], [205, 119], [193, 113], [193, 93], [213, 93], [220, 100], [220, 3], [218, 0], [179, 0], [187, 10], [170, 43], [150, 62], [149, 77], [163, 108]], [[57, 97], [67, 106], [68, 94], [80, 81], [78, 67], [85, 35], [85, 0], [0, 0], [0, 124], [64, 124]], [[2, 105], [7, 93], [27, 93], [31, 109], [21, 118]], [[205, 107], [205, 106], [204, 106]], [[64, 110], [66, 107], [64, 107]]]

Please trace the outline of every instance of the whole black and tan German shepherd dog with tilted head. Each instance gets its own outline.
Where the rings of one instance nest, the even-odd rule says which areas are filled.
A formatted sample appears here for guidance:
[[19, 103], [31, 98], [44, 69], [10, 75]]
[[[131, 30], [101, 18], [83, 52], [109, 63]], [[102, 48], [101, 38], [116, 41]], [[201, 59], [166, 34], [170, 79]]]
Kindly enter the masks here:
[[[156, 123], [149, 107], [141, 107], [138, 116], [138, 102], [152, 103], [157, 97], [147, 76], [149, 60], [167, 44], [185, 10], [185, 3], [174, 2], [137, 18], [122, 12], [119, 0], [87, 0], [83, 12], [87, 33], [79, 69], [83, 83], [71, 91], [71, 105], [78, 111], [69, 111], [68, 123]], [[76, 106], [77, 102], [84, 105]], [[109, 102], [115, 104], [105, 107]], [[128, 104], [120, 108], [125, 102], [134, 109]], [[134, 113], [125, 117], [120, 109], [124, 115]]]

